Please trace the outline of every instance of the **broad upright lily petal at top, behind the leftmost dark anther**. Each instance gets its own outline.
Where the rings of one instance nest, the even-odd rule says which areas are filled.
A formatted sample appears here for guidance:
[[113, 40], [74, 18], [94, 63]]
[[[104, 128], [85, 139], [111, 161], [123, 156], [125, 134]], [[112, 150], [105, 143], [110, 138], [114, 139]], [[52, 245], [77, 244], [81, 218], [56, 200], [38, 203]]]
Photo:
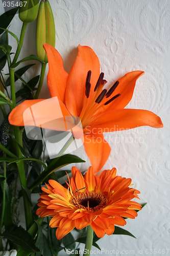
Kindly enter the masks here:
[[[67, 78], [65, 102], [69, 112], [79, 116], [85, 101], [85, 84], [87, 72], [91, 70], [91, 92], [100, 75], [100, 63], [98, 56], [87, 46], [78, 46], [78, 55]], [[89, 95], [89, 99], [92, 93]]]

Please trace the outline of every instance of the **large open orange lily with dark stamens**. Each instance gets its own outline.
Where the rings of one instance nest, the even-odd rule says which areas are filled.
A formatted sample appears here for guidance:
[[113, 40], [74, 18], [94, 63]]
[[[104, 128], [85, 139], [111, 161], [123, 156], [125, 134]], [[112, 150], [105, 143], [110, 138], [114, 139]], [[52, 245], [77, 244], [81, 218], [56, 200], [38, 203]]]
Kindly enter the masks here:
[[[126, 74], [107, 91], [103, 89], [106, 80], [104, 73], [100, 74], [99, 59], [90, 47], [79, 45], [77, 58], [69, 74], [63, 68], [63, 60], [58, 51], [48, 44], [44, 44], [44, 49], [48, 57], [47, 84], [51, 97], [58, 97], [63, 116], [80, 117], [84, 131], [83, 143], [94, 173], [99, 172], [110, 154], [110, 146], [105, 141], [103, 132], [142, 125], [156, 128], [163, 126], [161, 119], [150, 111], [124, 109], [133, 96], [136, 80], [144, 72], [133, 71]], [[24, 125], [23, 112], [40, 101], [42, 99], [23, 101], [10, 113], [9, 122]], [[50, 107], [48, 111], [44, 106], [44, 110], [37, 113], [42, 122], [48, 120], [45, 115], [56, 119], [56, 112], [51, 111]], [[52, 122], [50, 125], [48, 128], [52, 130], [59, 129], [56, 123]], [[99, 155], [102, 157], [99, 158]]]

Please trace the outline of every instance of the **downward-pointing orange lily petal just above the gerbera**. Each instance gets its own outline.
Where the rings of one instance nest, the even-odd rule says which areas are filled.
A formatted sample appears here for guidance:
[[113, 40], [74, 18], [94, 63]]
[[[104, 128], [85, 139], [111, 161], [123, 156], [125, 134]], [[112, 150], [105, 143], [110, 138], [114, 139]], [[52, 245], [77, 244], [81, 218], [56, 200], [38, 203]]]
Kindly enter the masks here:
[[84, 135], [84, 148], [90, 159], [93, 173], [98, 173], [109, 157], [109, 144], [104, 139], [103, 134], [100, 134], [98, 137], [96, 135], [95, 137]]

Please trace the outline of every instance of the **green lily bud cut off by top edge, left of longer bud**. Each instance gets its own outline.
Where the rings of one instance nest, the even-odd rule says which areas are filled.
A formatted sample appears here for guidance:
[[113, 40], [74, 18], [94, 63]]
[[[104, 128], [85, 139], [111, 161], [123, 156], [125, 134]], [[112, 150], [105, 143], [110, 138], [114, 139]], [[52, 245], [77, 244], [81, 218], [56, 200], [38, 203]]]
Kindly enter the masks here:
[[20, 0], [19, 18], [22, 22], [33, 22], [38, 15], [39, 0]]

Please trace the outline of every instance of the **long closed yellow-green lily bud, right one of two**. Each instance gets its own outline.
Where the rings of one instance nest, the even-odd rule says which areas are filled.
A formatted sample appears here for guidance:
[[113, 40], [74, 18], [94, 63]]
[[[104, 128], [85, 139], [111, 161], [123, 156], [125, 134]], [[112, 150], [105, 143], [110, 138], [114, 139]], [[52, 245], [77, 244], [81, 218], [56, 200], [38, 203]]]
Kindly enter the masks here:
[[37, 57], [45, 63], [48, 62], [43, 44], [50, 44], [55, 47], [55, 23], [52, 8], [48, 0], [41, 0], [37, 17], [36, 46]]

